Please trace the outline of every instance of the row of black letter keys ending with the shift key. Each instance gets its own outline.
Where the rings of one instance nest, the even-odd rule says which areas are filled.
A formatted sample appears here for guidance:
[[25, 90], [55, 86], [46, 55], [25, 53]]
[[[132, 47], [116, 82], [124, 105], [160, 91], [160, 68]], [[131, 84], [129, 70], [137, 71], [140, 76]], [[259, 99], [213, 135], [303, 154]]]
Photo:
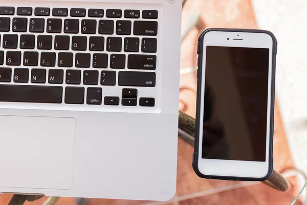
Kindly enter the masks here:
[[[48, 78], [47, 70], [43, 68], [31, 69], [29, 75], [28, 68], [15, 68], [13, 73], [14, 83], [28, 83], [29, 77], [33, 84], [67, 84], [80, 85], [81, 84], [81, 70], [66, 70], [64, 81], [64, 70], [49, 69]], [[101, 71], [100, 85], [101, 86], [115, 86], [117, 80], [116, 71]], [[47, 78], [47, 79], [46, 79]], [[10, 83], [12, 81], [12, 69], [0, 68], [0, 82]], [[96, 70], [83, 71], [83, 85], [97, 86], [99, 84], [99, 72]], [[134, 72], [134, 71], [120, 71], [118, 72], [118, 85], [128, 87], [155, 87], [156, 73], [155, 72]], [[132, 96], [124, 96], [124, 98], [135, 98]]]

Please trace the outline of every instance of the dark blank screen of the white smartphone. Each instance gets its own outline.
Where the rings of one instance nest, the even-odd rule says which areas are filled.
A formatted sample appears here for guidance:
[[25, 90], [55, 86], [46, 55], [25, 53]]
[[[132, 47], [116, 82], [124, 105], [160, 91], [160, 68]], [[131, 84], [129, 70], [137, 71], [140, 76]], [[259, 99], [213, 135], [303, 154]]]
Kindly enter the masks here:
[[269, 49], [207, 46], [202, 158], [266, 161]]

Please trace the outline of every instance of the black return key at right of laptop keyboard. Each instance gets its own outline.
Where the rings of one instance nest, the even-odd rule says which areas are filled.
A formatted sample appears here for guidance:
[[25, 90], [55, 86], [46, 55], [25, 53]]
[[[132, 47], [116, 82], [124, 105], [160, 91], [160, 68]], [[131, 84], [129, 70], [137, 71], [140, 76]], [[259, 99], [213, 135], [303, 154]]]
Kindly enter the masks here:
[[156, 70], [156, 55], [128, 55], [128, 69]]

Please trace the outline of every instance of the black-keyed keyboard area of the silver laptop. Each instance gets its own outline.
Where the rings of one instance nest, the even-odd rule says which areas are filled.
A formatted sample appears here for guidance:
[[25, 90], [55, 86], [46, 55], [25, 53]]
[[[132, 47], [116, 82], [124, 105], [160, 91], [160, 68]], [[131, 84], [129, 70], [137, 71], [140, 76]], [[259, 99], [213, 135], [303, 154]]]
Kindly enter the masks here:
[[158, 17], [0, 6], [0, 102], [155, 107]]

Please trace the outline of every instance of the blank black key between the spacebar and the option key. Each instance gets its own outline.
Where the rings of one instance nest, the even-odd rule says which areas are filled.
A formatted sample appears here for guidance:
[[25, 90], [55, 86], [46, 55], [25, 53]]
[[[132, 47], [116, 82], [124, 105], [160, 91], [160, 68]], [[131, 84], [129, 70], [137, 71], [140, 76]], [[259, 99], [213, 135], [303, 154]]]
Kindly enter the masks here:
[[66, 87], [64, 102], [65, 104], [84, 104], [84, 88]]

